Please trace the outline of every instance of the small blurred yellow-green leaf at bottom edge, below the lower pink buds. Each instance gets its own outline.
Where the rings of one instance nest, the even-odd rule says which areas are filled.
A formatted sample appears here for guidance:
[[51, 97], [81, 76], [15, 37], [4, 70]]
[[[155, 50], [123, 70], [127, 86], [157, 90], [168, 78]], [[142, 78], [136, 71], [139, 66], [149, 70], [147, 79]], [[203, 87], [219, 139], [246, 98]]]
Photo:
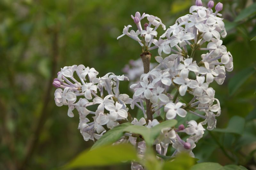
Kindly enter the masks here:
[[165, 162], [163, 170], [187, 170], [195, 165], [196, 159], [190, 157], [187, 153], [181, 153], [172, 161]]

